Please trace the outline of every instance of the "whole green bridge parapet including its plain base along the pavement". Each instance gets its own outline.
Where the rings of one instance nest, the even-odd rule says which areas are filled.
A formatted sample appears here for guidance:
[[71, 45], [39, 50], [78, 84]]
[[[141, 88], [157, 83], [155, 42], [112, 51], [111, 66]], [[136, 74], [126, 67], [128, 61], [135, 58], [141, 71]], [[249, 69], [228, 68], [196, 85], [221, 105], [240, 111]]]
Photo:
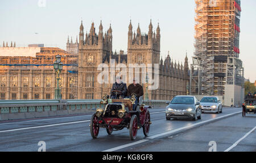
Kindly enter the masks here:
[[[103, 107], [100, 99], [86, 100], [3, 100], [0, 101], [0, 120], [79, 115]], [[152, 108], [165, 108], [167, 101], [145, 100]]]

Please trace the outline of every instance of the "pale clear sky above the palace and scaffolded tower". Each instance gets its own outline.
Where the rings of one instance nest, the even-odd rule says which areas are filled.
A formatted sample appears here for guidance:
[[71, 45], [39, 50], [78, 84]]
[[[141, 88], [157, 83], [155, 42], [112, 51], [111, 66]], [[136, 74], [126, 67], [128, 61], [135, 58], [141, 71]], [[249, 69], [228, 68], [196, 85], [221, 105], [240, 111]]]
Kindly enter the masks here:
[[[44, 1], [44, 0], [41, 0]], [[0, 45], [3, 41], [16, 41], [17, 46], [44, 43], [46, 47], [65, 49], [67, 37], [79, 34], [81, 19], [85, 32], [92, 21], [98, 26], [102, 19], [104, 31], [112, 24], [113, 51], [127, 51], [127, 32], [131, 19], [133, 31], [138, 23], [142, 32], [148, 32], [150, 19], [154, 30], [159, 22], [161, 55], [184, 62], [185, 51], [189, 63], [194, 51], [194, 0], [122, 1], [122, 0], [46, 0], [46, 7], [39, 7], [39, 0], [0, 1]], [[240, 59], [245, 77], [256, 80], [256, 1], [241, 1]], [[38, 33], [38, 35], [35, 34]]]

